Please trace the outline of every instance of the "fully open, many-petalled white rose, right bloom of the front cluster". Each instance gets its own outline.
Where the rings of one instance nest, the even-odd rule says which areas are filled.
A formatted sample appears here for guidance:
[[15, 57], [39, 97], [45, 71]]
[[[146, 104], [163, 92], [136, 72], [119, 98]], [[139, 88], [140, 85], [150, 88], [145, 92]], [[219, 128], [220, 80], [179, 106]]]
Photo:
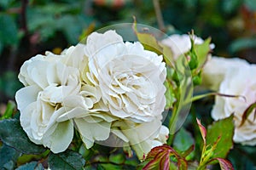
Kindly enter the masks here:
[[166, 105], [166, 66], [162, 56], [140, 42], [123, 42], [115, 31], [87, 38], [88, 79], [100, 88], [110, 113], [135, 122], [150, 122]]

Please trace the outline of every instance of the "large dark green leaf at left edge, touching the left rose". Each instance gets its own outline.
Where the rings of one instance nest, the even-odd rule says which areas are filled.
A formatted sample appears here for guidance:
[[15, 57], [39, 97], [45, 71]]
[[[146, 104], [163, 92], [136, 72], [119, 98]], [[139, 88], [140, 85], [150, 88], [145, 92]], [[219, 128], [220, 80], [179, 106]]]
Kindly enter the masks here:
[[40, 154], [45, 151], [43, 145], [34, 144], [27, 138], [17, 119], [0, 121], [0, 139], [3, 144], [26, 154]]

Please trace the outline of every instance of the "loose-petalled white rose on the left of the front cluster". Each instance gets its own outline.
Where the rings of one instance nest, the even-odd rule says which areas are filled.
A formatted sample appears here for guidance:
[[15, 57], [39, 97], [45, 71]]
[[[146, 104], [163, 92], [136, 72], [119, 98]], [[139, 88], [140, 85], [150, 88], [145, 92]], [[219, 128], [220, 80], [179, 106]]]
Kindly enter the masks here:
[[80, 89], [79, 71], [61, 63], [62, 57], [46, 53], [27, 60], [19, 75], [26, 87], [15, 95], [29, 139], [55, 153], [66, 150], [73, 139], [73, 122], [56, 122], [66, 112], [62, 100]]

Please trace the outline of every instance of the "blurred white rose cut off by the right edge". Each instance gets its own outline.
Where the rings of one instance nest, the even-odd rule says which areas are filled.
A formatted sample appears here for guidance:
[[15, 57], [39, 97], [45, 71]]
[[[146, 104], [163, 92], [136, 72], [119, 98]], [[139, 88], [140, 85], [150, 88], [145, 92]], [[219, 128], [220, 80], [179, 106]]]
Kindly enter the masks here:
[[[236, 64], [234, 64], [236, 65]], [[256, 120], [254, 112], [248, 116], [247, 121], [240, 126], [241, 116], [247, 107], [256, 101], [256, 65], [244, 65], [230, 67], [224, 75], [224, 81], [220, 83], [219, 93], [241, 95], [243, 98], [226, 98], [216, 96], [212, 109], [214, 120], [222, 119], [234, 113], [236, 143], [256, 144]]]

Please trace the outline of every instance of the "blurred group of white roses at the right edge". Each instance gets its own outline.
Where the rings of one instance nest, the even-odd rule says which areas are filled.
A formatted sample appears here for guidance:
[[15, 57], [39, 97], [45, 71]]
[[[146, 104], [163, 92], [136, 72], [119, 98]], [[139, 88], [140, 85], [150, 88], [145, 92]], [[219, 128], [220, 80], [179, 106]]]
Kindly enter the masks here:
[[242, 115], [249, 105], [256, 102], [256, 65], [250, 65], [244, 59], [224, 59], [212, 57], [202, 72], [203, 82], [220, 94], [239, 95], [241, 97], [215, 97], [212, 109], [214, 120], [234, 114], [236, 143], [256, 144], [256, 119], [253, 111], [241, 125]]

